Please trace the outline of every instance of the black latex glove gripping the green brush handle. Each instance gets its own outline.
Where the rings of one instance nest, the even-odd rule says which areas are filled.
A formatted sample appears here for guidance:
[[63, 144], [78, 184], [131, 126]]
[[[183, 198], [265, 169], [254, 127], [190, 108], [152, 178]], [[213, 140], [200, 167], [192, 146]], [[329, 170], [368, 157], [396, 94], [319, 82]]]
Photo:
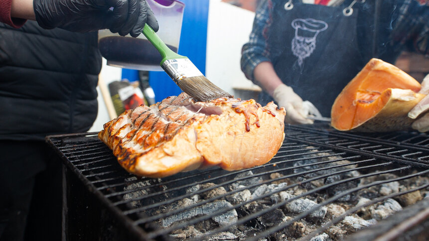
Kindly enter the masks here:
[[155, 31], [159, 28], [146, 0], [34, 0], [33, 6], [37, 23], [45, 29], [89, 32], [108, 28], [137, 37], [145, 23]]

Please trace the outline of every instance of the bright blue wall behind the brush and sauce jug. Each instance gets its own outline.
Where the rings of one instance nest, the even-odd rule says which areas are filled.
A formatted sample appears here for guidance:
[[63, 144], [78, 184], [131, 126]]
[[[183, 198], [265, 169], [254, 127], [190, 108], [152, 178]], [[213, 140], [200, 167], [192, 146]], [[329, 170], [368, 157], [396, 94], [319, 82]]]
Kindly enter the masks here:
[[[203, 73], [206, 73], [207, 22], [209, 0], [180, 0], [185, 3], [179, 54], [187, 56]], [[136, 70], [122, 70], [122, 79], [138, 79]], [[177, 96], [182, 91], [165, 72], [151, 71], [149, 83], [155, 92], [155, 101]]]

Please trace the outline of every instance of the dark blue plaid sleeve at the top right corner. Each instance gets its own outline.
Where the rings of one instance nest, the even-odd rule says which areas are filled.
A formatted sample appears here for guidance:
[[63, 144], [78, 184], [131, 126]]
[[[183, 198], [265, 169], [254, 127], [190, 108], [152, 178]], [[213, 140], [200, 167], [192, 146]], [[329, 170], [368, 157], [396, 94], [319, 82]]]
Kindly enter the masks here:
[[404, 0], [392, 38], [411, 41], [416, 52], [429, 57], [429, 0]]

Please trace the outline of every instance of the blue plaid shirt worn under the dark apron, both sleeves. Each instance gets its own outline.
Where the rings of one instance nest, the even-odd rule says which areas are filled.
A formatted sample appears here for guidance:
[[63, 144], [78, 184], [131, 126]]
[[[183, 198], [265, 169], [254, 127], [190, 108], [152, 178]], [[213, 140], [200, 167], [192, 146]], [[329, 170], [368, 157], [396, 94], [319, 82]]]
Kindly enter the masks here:
[[[429, 0], [403, 0], [392, 39], [405, 46], [412, 42], [414, 51], [429, 57]], [[271, 62], [267, 31], [271, 24], [272, 0], [262, 0], [256, 9], [249, 41], [241, 50], [241, 70], [254, 81], [253, 70], [261, 62]]]

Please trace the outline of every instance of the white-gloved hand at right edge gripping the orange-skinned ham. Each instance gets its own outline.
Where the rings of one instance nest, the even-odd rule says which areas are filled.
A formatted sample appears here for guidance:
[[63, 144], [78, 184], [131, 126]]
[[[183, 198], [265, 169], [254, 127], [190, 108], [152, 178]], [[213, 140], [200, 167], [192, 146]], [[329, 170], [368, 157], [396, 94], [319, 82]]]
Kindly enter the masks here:
[[[409, 113], [408, 117], [411, 119], [416, 119], [422, 113], [429, 110], [429, 75], [427, 75], [422, 81], [422, 89], [419, 93], [427, 95], [423, 98]], [[413, 129], [416, 129], [420, 132], [429, 131], [429, 113], [426, 113], [423, 117], [415, 120], [411, 125]]]

